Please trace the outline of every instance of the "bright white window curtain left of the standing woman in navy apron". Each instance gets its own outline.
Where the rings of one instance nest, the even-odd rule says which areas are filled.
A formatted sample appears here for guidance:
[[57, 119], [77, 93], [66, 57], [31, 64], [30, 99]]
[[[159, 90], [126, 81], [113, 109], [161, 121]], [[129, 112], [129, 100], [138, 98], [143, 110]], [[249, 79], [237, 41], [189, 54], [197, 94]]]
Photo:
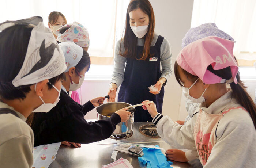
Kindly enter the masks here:
[[92, 62], [109, 65], [124, 30], [129, 0], [1, 0], [0, 4], [0, 23], [41, 16], [48, 27], [52, 11], [63, 13], [67, 23], [81, 23], [89, 31]]

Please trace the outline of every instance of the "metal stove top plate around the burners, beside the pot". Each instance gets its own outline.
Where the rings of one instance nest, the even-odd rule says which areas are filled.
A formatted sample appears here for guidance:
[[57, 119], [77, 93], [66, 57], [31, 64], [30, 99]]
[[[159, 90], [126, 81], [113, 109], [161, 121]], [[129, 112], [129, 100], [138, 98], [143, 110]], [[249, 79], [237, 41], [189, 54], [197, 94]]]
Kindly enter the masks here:
[[158, 138], [154, 133], [155, 137], [150, 137], [150, 136], [145, 136], [142, 133], [140, 133], [139, 128], [143, 125], [151, 125], [153, 126], [153, 122], [134, 122], [133, 126], [133, 134], [129, 138], [125, 139], [105, 139], [99, 142], [95, 142], [96, 144], [117, 144], [120, 142], [125, 142], [125, 143], [136, 143], [136, 144], [143, 144], [145, 142], [163, 142], [161, 138]]

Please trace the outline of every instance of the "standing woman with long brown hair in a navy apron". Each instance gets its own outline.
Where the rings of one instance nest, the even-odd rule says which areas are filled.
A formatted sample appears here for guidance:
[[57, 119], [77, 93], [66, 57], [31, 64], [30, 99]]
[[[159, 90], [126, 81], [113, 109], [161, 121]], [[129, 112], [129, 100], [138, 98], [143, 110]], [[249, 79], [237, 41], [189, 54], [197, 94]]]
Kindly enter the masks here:
[[[116, 45], [108, 92], [111, 102], [115, 101], [117, 88], [121, 85], [119, 102], [139, 104], [144, 99], [153, 100], [161, 113], [163, 86], [172, 74], [172, 54], [168, 40], [154, 33], [154, 28], [155, 16], [150, 2], [132, 0], [127, 8], [124, 38]], [[149, 91], [151, 85], [157, 90]], [[135, 122], [152, 119], [142, 107], [136, 107]]]

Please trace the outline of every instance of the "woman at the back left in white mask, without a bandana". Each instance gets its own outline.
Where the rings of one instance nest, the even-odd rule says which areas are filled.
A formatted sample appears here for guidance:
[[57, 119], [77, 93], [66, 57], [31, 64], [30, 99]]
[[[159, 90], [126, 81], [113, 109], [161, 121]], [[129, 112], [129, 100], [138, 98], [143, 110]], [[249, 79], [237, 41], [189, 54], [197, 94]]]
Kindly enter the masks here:
[[65, 24], [67, 24], [67, 20], [61, 12], [50, 12], [48, 16], [48, 27], [50, 30], [52, 30], [52, 34], [54, 35], [55, 39], [57, 39], [56, 31]]

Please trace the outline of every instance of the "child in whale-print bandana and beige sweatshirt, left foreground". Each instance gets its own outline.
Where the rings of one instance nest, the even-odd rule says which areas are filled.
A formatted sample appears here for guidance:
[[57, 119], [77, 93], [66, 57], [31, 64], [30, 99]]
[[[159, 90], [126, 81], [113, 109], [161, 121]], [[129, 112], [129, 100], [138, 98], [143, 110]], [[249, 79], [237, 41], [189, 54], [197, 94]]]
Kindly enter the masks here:
[[31, 168], [34, 134], [25, 121], [56, 106], [65, 58], [38, 16], [1, 23], [0, 48], [0, 167]]

